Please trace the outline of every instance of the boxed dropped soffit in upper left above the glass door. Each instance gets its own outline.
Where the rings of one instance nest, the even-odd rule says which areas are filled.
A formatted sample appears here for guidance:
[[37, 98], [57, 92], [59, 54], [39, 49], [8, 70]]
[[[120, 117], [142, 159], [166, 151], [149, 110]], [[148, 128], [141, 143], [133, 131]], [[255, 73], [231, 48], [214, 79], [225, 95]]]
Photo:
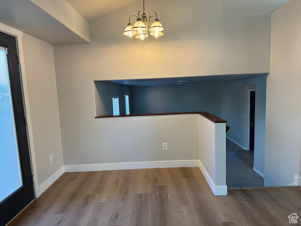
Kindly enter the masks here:
[[0, 0], [0, 23], [51, 44], [90, 42], [89, 24], [62, 0]]

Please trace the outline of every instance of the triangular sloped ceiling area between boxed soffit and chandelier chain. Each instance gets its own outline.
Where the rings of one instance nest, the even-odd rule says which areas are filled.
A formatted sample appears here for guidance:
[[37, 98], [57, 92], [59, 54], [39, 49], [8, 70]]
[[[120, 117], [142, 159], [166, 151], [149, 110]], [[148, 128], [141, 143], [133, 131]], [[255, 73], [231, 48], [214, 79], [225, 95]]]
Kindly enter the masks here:
[[[89, 23], [135, 5], [141, 0], [66, 0]], [[142, 8], [142, 3], [141, 3]]]

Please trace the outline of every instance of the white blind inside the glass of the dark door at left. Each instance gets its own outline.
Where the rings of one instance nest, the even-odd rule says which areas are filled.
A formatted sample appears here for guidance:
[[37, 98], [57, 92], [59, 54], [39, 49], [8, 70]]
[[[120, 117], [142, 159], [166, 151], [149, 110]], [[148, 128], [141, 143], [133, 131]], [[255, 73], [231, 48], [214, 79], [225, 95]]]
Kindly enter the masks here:
[[0, 47], [0, 202], [22, 186], [6, 49]]

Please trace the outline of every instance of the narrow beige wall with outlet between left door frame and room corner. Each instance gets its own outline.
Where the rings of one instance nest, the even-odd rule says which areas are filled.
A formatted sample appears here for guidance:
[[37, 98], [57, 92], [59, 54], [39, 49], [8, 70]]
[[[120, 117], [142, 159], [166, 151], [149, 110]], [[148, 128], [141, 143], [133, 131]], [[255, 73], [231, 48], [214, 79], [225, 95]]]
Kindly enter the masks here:
[[[39, 185], [63, 166], [53, 46], [23, 33], [29, 107]], [[49, 155], [53, 155], [50, 164]]]

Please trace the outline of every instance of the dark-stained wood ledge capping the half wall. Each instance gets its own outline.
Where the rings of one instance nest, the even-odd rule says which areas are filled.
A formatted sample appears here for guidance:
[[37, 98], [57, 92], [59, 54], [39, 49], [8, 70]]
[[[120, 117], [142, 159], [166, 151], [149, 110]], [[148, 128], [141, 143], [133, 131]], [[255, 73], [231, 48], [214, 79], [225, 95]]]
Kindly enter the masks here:
[[192, 111], [192, 112], [174, 112], [174, 113], [156, 113], [156, 114], [136, 114], [136, 115], [104, 115], [96, 116], [95, 118], [115, 118], [115, 117], [133, 117], [133, 116], [151, 116], [151, 115], [188, 115], [188, 114], [199, 114], [203, 117], [209, 119], [214, 123], [226, 123], [226, 120], [219, 118], [215, 115], [212, 115], [206, 111]]

